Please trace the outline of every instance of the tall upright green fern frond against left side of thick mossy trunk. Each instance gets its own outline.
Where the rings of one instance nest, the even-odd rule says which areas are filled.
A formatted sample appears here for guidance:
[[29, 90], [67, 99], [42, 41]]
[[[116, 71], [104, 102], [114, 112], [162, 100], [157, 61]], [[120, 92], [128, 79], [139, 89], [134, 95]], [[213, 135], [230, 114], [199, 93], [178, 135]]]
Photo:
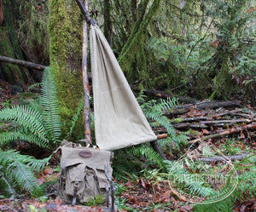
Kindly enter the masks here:
[[55, 77], [50, 67], [44, 69], [42, 95], [40, 99], [44, 126], [50, 141], [55, 144], [61, 136], [61, 119], [59, 115]]

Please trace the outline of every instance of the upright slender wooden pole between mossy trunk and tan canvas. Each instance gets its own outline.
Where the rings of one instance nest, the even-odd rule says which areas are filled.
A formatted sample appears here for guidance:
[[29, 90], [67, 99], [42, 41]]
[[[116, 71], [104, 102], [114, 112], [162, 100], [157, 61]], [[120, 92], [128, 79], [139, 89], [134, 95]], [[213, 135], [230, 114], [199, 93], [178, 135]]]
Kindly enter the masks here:
[[[88, 11], [88, 0], [84, 1], [85, 9]], [[88, 60], [88, 24], [86, 20], [83, 20], [83, 59], [82, 59], [82, 71], [83, 71], [83, 84], [84, 84], [84, 138], [91, 143], [90, 135], [90, 85], [87, 72], [87, 60]]]

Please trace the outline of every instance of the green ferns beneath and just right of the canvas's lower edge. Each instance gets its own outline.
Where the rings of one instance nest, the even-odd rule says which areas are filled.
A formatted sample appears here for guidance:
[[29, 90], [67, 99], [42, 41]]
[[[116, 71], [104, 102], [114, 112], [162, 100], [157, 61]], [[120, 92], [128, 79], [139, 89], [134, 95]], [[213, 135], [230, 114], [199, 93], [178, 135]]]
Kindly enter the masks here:
[[[176, 144], [177, 149], [179, 149], [181, 144], [186, 143], [187, 137], [184, 135], [177, 136], [172, 123], [166, 116], [163, 115], [164, 111], [177, 106], [177, 99], [168, 98], [167, 100], [160, 100], [160, 102], [157, 102], [156, 100], [146, 101], [146, 96], [140, 94], [137, 97], [137, 101], [140, 103], [143, 113], [145, 114], [145, 117], [147, 117], [151, 126], [166, 129], [169, 136], [168, 138], [161, 140], [160, 147], [164, 148], [169, 146], [171, 141], [173, 141]], [[164, 159], [161, 158], [157, 152], [154, 152], [154, 149], [148, 143], [119, 150], [115, 153], [115, 155], [117, 155], [115, 158], [119, 158], [119, 160], [117, 161], [118, 164], [114, 165], [117, 165], [119, 169], [133, 169], [134, 167], [131, 166], [131, 161], [137, 161], [137, 158], [145, 158], [147, 165], [154, 164], [160, 169], [166, 169]], [[130, 157], [130, 159], [127, 160], [127, 157]], [[134, 165], [137, 166], [138, 164]], [[143, 169], [143, 167], [141, 168]]]

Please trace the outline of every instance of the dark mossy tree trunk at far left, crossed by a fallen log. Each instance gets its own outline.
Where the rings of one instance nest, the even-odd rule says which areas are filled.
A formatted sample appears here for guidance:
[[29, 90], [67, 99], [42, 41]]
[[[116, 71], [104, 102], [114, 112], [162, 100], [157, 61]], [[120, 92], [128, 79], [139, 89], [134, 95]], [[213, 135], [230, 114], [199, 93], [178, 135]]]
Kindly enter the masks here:
[[[15, 1], [0, 2], [0, 55], [24, 60], [17, 35], [15, 34]], [[9, 83], [33, 83], [30, 72], [20, 66], [0, 63], [0, 78]]]

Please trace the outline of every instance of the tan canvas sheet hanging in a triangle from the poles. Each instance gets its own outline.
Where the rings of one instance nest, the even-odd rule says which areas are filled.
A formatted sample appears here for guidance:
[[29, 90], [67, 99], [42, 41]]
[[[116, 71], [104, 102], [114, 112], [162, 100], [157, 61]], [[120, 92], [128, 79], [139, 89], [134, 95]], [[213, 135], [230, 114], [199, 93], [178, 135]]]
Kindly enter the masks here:
[[97, 146], [112, 151], [156, 140], [98, 26], [90, 26], [90, 61]]

